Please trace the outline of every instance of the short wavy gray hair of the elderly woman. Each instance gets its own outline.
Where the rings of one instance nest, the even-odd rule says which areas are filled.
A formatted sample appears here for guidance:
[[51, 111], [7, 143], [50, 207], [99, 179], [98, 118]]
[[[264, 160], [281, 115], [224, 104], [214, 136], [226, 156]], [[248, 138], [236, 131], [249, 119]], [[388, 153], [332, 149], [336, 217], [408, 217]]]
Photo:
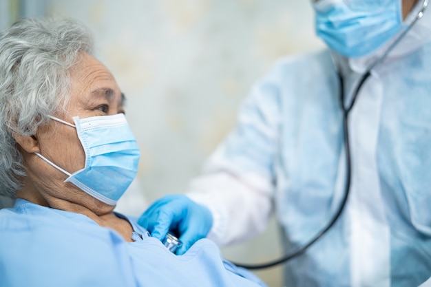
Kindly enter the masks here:
[[21, 19], [0, 33], [0, 195], [14, 198], [26, 175], [12, 134], [34, 135], [48, 115], [64, 111], [70, 68], [92, 45], [71, 19]]

